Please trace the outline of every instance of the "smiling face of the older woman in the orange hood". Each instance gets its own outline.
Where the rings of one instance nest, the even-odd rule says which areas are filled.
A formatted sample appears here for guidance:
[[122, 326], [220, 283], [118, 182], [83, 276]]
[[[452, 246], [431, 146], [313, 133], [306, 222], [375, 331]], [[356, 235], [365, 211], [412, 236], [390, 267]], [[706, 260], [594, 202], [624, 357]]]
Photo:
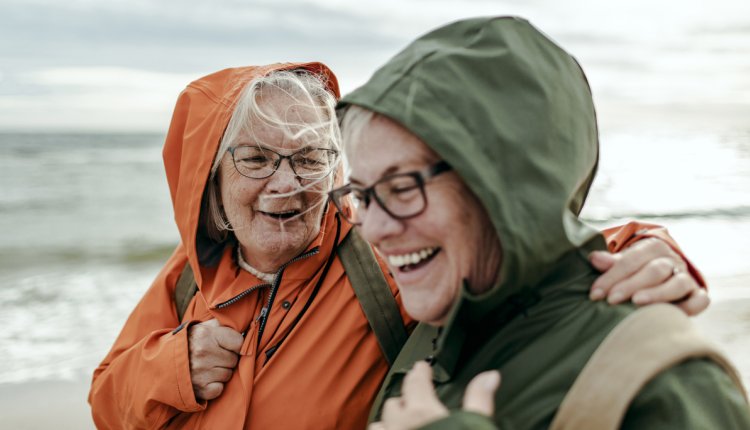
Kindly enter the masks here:
[[[320, 109], [293, 103], [280, 90], [264, 90], [259, 103], [265, 111], [275, 112], [290, 123], [320, 121]], [[241, 133], [232, 142], [233, 146], [260, 146], [282, 155], [306, 147], [330, 148], [330, 142], [311, 138], [309, 133], [294, 136], [290, 130], [257, 116], [249, 121], [248, 129], [252, 132]], [[289, 160], [284, 159], [270, 177], [253, 179], [237, 171], [231, 153], [224, 154], [218, 170], [221, 205], [242, 255], [251, 266], [274, 272], [308, 247], [320, 232], [325, 191], [331, 186], [332, 175], [322, 180], [298, 179]]]

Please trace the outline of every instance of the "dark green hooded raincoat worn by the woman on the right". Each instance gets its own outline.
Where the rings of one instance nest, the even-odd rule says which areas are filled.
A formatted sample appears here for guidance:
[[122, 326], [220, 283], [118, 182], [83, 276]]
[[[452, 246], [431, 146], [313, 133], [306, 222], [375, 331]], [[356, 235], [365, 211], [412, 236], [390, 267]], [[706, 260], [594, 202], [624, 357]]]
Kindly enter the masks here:
[[[412, 364], [430, 356], [438, 396], [454, 412], [426, 428], [547, 428], [591, 354], [633, 311], [588, 299], [598, 273], [587, 255], [605, 245], [577, 216], [598, 160], [579, 65], [525, 20], [466, 20], [409, 45], [346, 105], [395, 120], [447, 160], [503, 247], [497, 285], [481, 296], [464, 285], [442, 329], [418, 326], [371, 420], [400, 395]], [[489, 369], [503, 375], [494, 421], [460, 411], [467, 383]], [[689, 360], [640, 392], [623, 428], [748, 429], [750, 414], [723, 370]]]

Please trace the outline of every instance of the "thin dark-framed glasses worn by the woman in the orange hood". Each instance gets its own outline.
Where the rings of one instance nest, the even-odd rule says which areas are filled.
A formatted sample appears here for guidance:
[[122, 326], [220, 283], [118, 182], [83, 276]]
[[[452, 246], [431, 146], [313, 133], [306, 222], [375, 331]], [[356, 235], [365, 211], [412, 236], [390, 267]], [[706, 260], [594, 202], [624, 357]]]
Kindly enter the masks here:
[[273, 175], [281, 160], [289, 160], [289, 166], [298, 178], [322, 179], [333, 170], [338, 151], [327, 148], [303, 148], [290, 155], [258, 145], [233, 146], [227, 149], [232, 154], [234, 167], [242, 176], [265, 179]]

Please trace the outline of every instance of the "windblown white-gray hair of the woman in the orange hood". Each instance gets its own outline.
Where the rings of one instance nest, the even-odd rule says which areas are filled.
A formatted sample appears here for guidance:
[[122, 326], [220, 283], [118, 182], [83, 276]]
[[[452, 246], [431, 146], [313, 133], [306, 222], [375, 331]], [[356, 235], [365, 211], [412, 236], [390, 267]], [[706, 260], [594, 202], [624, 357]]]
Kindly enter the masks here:
[[[341, 150], [341, 132], [336, 120], [336, 96], [328, 87], [327, 78], [304, 70], [276, 70], [250, 81], [242, 91], [232, 117], [216, 152], [206, 189], [206, 228], [213, 240], [221, 242], [232, 229], [221, 209], [218, 170], [224, 154], [243, 135], [254, 136], [251, 119], [282, 130], [289, 139], [313, 138], [330, 143], [330, 148]], [[271, 109], [263, 102], [264, 91], [281, 92], [292, 102], [288, 108], [302, 106], [316, 112], [310, 122], [289, 118], [288, 109]], [[278, 110], [278, 111], [277, 111]], [[334, 167], [334, 172], [337, 168]], [[329, 175], [330, 177], [331, 175]], [[328, 178], [322, 180], [329, 180]], [[316, 181], [316, 182], [319, 182]], [[332, 182], [331, 182], [332, 183]], [[311, 184], [312, 185], [312, 184]], [[310, 186], [310, 185], [308, 185]]]

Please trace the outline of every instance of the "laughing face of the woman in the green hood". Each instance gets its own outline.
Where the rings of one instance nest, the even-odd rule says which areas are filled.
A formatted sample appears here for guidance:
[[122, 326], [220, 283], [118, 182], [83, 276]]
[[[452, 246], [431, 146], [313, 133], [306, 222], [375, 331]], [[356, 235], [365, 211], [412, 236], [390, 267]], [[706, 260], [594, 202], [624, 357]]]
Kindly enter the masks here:
[[[382, 116], [349, 135], [354, 140], [346, 142], [354, 185], [369, 186], [440, 160], [416, 136]], [[361, 212], [359, 228], [385, 257], [407, 312], [442, 325], [463, 279], [474, 293], [494, 285], [502, 251], [487, 212], [455, 172], [430, 179], [425, 192], [427, 208], [418, 216], [394, 219], [373, 202]]]

